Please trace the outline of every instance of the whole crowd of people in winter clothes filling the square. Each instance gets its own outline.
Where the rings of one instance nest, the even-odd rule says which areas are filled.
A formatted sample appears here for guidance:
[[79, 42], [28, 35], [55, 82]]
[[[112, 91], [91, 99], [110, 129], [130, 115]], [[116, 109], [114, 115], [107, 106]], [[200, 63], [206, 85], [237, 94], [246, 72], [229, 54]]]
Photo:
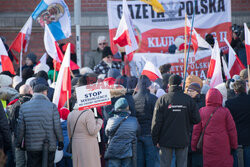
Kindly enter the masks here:
[[[214, 43], [209, 35], [206, 40]], [[28, 54], [22, 77], [0, 73], [0, 166], [250, 166], [246, 69], [210, 88], [209, 80], [189, 75], [184, 81], [164, 64], [162, 79], [151, 81], [126, 76], [124, 53], [113, 55], [104, 36], [97, 42], [97, 51], [84, 56], [85, 67], [73, 70], [72, 96], [60, 109], [52, 103], [57, 72], [50, 57], [47, 65], [37, 64]], [[75, 89], [105, 81], [111, 105], [79, 110]]]

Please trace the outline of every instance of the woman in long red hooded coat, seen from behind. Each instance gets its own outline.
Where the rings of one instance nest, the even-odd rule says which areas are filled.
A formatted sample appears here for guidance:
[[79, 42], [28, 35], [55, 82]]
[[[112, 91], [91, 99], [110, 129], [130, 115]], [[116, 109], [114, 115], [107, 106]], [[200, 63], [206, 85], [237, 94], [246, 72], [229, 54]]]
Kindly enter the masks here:
[[192, 135], [192, 150], [196, 151], [199, 137], [208, 123], [203, 138], [204, 167], [232, 167], [231, 151], [237, 149], [237, 132], [230, 111], [222, 107], [222, 95], [219, 90], [212, 88], [206, 95], [206, 107], [200, 109], [201, 122], [194, 125]]

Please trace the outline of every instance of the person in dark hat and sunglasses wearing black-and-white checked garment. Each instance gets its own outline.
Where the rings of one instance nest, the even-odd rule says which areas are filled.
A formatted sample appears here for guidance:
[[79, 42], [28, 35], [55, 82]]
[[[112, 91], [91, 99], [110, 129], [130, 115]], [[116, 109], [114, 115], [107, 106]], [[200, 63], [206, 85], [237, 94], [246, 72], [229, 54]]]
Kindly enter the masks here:
[[109, 69], [116, 68], [119, 70], [120, 67], [120, 64], [113, 62], [113, 53], [110, 47], [106, 46], [102, 52], [102, 61], [100, 61], [100, 63], [94, 67], [94, 72], [97, 75], [105, 74], [107, 76]]

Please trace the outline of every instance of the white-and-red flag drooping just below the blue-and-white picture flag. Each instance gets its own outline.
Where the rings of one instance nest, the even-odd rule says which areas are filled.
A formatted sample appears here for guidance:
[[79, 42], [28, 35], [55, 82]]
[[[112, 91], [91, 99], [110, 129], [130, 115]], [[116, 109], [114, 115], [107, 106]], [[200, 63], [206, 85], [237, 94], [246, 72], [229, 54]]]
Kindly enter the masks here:
[[[64, 55], [47, 25], [45, 25], [44, 29], [44, 46], [50, 57], [56, 60], [57, 65], [59, 65], [59, 63], [62, 62]], [[70, 68], [71, 70], [77, 70], [80, 67], [70, 60]]]

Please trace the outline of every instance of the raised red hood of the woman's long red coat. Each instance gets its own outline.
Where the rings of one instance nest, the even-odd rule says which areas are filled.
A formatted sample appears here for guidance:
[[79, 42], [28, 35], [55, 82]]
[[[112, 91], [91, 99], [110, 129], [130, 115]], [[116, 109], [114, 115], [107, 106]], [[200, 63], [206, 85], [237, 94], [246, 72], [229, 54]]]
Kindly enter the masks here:
[[216, 88], [211, 88], [206, 95], [206, 106], [222, 106], [223, 97], [220, 91]]

